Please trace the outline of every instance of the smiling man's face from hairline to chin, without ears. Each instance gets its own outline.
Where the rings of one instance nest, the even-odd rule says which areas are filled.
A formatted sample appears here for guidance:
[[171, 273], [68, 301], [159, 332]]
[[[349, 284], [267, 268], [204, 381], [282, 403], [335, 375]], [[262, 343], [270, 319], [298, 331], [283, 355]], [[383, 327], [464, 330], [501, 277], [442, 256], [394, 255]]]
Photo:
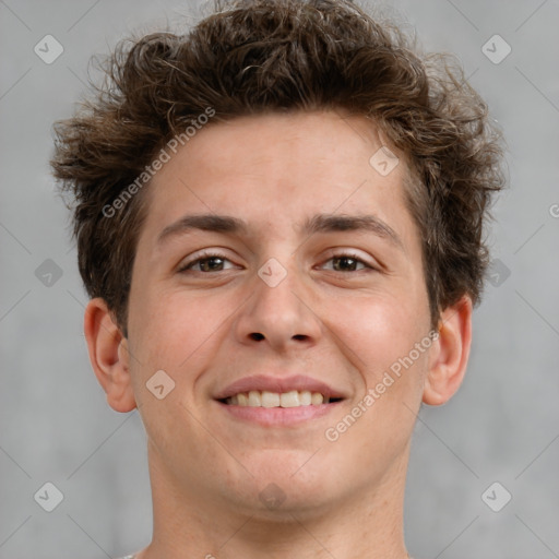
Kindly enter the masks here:
[[150, 185], [130, 372], [151, 460], [185, 498], [301, 511], [405, 471], [430, 317], [405, 159], [379, 173], [381, 145], [362, 117], [237, 118]]

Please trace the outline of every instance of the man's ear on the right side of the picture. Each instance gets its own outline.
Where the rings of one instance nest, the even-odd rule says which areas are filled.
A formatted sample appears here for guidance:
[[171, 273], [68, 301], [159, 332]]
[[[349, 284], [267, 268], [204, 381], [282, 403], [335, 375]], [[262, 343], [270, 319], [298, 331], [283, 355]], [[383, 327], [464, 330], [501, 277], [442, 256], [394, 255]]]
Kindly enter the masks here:
[[472, 299], [463, 296], [441, 314], [439, 337], [431, 346], [424, 386], [426, 404], [439, 406], [447, 403], [464, 379], [472, 343]]

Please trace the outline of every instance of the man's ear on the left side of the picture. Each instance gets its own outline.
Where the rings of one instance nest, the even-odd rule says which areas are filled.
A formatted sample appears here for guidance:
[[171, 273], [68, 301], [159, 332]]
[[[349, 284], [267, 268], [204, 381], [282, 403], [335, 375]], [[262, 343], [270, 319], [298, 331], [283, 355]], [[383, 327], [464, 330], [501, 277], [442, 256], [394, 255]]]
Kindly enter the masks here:
[[95, 376], [116, 412], [136, 407], [129, 368], [128, 340], [116, 324], [104, 299], [92, 299], [85, 308], [84, 333]]

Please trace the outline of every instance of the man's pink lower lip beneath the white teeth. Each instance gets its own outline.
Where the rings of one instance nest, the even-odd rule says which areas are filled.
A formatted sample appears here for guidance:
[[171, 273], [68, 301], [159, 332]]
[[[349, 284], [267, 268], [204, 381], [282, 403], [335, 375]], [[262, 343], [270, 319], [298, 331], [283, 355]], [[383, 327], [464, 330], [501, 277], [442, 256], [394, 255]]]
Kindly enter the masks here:
[[235, 406], [217, 402], [217, 404], [231, 416], [259, 424], [262, 426], [289, 426], [310, 419], [318, 419], [333, 412], [343, 400], [329, 404], [298, 406], [298, 407], [250, 407]]

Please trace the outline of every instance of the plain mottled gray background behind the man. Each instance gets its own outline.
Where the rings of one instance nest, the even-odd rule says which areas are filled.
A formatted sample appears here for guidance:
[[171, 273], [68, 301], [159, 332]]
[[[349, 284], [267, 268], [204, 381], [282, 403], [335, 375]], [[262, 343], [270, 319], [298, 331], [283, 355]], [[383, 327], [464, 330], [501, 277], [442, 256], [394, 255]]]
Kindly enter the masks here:
[[[475, 312], [462, 389], [419, 415], [406, 542], [423, 559], [559, 557], [559, 2], [384, 7], [427, 50], [460, 57], [509, 144], [510, 189], [490, 231], [495, 285]], [[86, 296], [47, 162], [51, 124], [83, 92], [90, 56], [178, 13], [197, 9], [171, 0], [0, 1], [2, 559], [118, 557], [151, 539], [145, 435], [138, 412], [108, 407], [91, 370]], [[51, 64], [34, 52], [47, 34], [64, 48]], [[495, 34], [512, 48], [498, 64], [481, 50]], [[43, 269], [36, 273], [47, 259], [62, 272], [50, 286]], [[46, 481], [64, 497], [50, 513], [34, 500]], [[500, 512], [481, 499], [493, 481], [512, 495]], [[493, 507], [503, 491], [490, 492]]]

